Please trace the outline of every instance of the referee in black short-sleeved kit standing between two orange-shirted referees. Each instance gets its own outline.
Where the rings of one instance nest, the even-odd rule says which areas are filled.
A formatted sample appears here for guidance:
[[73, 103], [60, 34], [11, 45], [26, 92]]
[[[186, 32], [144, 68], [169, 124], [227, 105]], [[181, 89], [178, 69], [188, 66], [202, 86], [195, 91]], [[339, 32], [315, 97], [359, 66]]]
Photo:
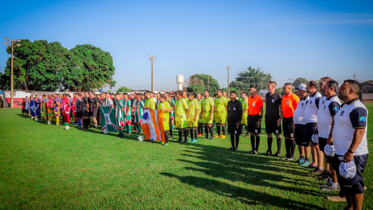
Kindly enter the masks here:
[[267, 86], [269, 91], [266, 94], [266, 114], [264, 115], [264, 123], [266, 124], [268, 150], [266, 155], [272, 155], [272, 133], [275, 133], [277, 142], [277, 152], [274, 157], [281, 155], [281, 117], [282, 115], [282, 96], [276, 92], [276, 82], [270, 81]]

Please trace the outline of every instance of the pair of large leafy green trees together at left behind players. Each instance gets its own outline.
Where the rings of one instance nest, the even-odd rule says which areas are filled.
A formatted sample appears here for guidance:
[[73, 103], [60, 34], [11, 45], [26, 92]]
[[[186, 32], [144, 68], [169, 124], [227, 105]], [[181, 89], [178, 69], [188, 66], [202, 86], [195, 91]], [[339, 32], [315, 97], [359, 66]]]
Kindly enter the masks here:
[[[7, 53], [11, 53], [7, 47]], [[56, 91], [93, 90], [115, 86], [113, 57], [91, 44], [68, 50], [61, 43], [21, 40], [13, 52], [13, 89]], [[0, 73], [0, 89], [10, 90], [11, 58]]]

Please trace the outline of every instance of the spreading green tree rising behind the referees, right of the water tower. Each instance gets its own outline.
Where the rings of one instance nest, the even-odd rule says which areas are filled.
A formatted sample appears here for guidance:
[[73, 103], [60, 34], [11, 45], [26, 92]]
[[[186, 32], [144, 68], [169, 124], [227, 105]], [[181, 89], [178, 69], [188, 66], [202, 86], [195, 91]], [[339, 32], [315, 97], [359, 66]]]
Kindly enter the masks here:
[[269, 72], [261, 71], [261, 68], [259, 67], [257, 69], [248, 67], [244, 71], [239, 71], [237, 76], [236, 80], [229, 84], [229, 87], [235, 87], [236, 91], [244, 90], [245, 92], [248, 92], [251, 85], [255, 85], [258, 89], [261, 89], [262, 84], [263, 89], [266, 89], [268, 82], [272, 80], [271, 74]]

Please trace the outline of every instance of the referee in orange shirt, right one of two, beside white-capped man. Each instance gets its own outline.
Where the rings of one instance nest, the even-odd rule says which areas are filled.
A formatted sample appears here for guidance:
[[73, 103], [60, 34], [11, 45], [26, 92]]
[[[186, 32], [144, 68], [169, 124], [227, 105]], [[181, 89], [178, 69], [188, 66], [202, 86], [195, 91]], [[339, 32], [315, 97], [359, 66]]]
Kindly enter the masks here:
[[[299, 97], [292, 92], [293, 85], [291, 83], [285, 83], [283, 86], [282, 96], [282, 130], [285, 138], [286, 156], [281, 159], [294, 160], [295, 151], [295, 127], [293, 121], [293, 113], [297, 108]], [[282, 116], [281, 116], [282, 117]]]

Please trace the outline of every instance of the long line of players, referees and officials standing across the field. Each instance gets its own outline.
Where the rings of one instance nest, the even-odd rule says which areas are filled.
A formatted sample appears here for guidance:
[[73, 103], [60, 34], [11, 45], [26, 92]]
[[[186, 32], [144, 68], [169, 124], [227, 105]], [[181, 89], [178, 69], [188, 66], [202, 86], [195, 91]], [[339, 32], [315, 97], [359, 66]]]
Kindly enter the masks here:
[[[292, 92], [291, 83], [285, 83], [282, 96], [276, 92], [276, 82], [270, 81], [269, 92], [265, 95], [265, 111], [256, 86], [250, 86], [248, 92], [240, 92], [239, 97], [235, 91], [227, 95], [221, 89], [214, 95], [209, 90], [197, 95], [178, 90], [173, 97], [168, 92], [151, 91], [144, 94], [103, 92], [99, 95], [80, 92], [72, 96], [54, 93], [41, 98], [38, 95], [26, 97], [22, 112], [29, 115], [30, 111], [35, 120], [40, 120], [41, 112], [44, 112], [44, 120], [48, 124], [55, 121], [56, 126], [60, 116], [63, 116], [65, 126], [69, 126], [70, 117], [73, 117], [73, 124], [86, 130], [91, 125], [91, 118], [92, 127], [98, 128], [100, 106], [109, 106], [115, 110], [117, 136], [123, 138], [133, 131], [142, 133], [144, 111], [157, 109], [162, 112], [165, 138], [165, 142], [159, 141], [162, 146], [169, 145], [175, 127], [178, 130], [177, 142], [182, 144], [198, 142], [199, 136], [214, 140], [225, 139], [229, 134], [229, 151], [238, 150], [240, 136], [250, 136], [252, 150], [249, 153], [253, 155], [259, 152], [264, 121], [268, 146], [264, 155], [292, 161], [298, 147], [300, 157], [294, 163], [310, 169], [318, 180], [326, 182], [320, 186], [321, 191], [339, 191], [338, 195], [327, 197], [328, 200], [347, 201], [346, 209], [361, 209], [365, 189], [362, 174], [369, 152], [368, 111], [360, 89], [360, 83], [354, 80], [345, 80], [338, 87], [337, 81], [323, 77], [319, 83], [308, 81], [295, 87], [297, 94]], [[215, 126], [216, 133], [213, 132]], [[273, 134], [277, 146], [274, 153]], [[285, 139], [285, 155], [281, 155], [281, 135]]]

